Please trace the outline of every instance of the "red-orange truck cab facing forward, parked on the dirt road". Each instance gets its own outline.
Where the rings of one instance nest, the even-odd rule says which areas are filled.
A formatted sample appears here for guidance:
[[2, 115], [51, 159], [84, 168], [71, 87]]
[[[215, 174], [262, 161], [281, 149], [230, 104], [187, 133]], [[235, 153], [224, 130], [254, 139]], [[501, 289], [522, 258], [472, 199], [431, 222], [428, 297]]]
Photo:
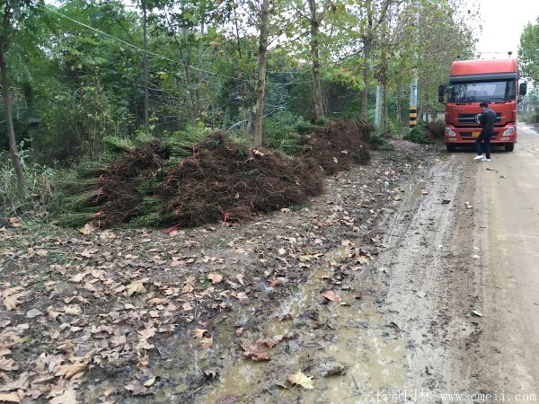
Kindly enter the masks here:
[[517, 142], [517, 91], [526, 95], [526, 83], [518, 86], [517, 59], [457, 60], [451, 64], [449, 83], [438, 87], [438, 101], [446, 104], [446, 148], [473, 144], [481, 134], [482, 101], [496, 112], [490, 145], [512, 152]]

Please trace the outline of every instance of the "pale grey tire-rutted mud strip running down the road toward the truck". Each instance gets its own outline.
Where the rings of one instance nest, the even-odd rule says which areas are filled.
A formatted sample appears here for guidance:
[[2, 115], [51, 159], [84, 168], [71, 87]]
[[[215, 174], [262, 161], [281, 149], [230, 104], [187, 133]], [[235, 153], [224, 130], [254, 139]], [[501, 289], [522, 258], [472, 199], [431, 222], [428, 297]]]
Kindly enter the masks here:
[[428, 194], [419, 192], [414, 203], [418, 190], [411, 192], [395, 215], [388, 233], [391, 250], [379, 259], [391, 274], [385, 312], [411, 347], [404, 387], [432, 400], [423, 402], [468, 390], [461, 364], [480, 332], [470, 313], [482, 285], [475, 279], [482, 250], [473, 235], [476, 169], [462, 154], [436, 164], [429, 179], [416, 186]]

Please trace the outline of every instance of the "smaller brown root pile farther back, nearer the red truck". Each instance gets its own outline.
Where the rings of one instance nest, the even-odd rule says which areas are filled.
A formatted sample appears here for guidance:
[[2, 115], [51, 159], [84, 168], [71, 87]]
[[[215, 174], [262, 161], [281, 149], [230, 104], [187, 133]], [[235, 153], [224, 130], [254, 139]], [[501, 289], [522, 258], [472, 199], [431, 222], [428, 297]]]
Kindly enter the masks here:
[[370, 159], [367, 141], [373, 127], [363, 122], [338, 121], [305, 136], [301, 145], [305, 157], [316, 161], [327, 174], [348, 171], [351, 164]]

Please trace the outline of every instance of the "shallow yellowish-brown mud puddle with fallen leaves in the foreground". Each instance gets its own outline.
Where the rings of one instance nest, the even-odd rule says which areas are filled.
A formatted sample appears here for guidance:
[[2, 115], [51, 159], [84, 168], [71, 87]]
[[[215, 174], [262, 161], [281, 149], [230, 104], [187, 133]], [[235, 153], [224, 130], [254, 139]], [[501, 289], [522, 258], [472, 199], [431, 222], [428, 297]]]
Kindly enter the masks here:
[[[339, 270], [335, 264], [350, 253], [348, 247], [341, 247], [326, 254], [325, 264], [261, 325], [264, 337], [294, 334], [295, 338], [271, 349], [270, 362], [240, 359], [232, 364], [199, 402], [213, 404], [225, 398], [272, 402], [299, 397], [307, 403], [365, 402], [376, 400], [386, 388], [401, 387], [406, 342], [394, 337], [395, 330], [384, 323], [374, 305], [358, 300], [364, 289], [361, 274], [336, 290], [341, 303], [324, 302], [321, 291], [327, 289], [328, 277]], [[309, 321], [305, 313], [316, 320]], [[336, 374], [326, 376], [337, 369]], [[313, 390], [287, 383], [287, 374], [299, 370], [314, 377]]]

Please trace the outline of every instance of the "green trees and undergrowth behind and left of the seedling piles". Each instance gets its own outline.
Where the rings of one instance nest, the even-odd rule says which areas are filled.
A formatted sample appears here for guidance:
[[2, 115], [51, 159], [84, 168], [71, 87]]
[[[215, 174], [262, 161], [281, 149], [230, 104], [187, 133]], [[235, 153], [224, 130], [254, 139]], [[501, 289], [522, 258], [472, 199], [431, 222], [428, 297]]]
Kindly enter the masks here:
[[[407, 132], [413, 51], [432, 116], [450, 62], [473, 55], [464, 21], [476, 16], [461, 0], [421, 2], [418, 31], [416, 3], [4, 2], [0, 217], [82, 223], [99, 210], [74, 200], [94, 185], [81, 171], [150, 141], [181, 147], [220, 131], [246, 154], [303, 158], [312, 134], [371, 121], [377, 85], [382, 124], [362, 145], [393, 150]], [[155, 202], [144, 206], [150, 215]]]

